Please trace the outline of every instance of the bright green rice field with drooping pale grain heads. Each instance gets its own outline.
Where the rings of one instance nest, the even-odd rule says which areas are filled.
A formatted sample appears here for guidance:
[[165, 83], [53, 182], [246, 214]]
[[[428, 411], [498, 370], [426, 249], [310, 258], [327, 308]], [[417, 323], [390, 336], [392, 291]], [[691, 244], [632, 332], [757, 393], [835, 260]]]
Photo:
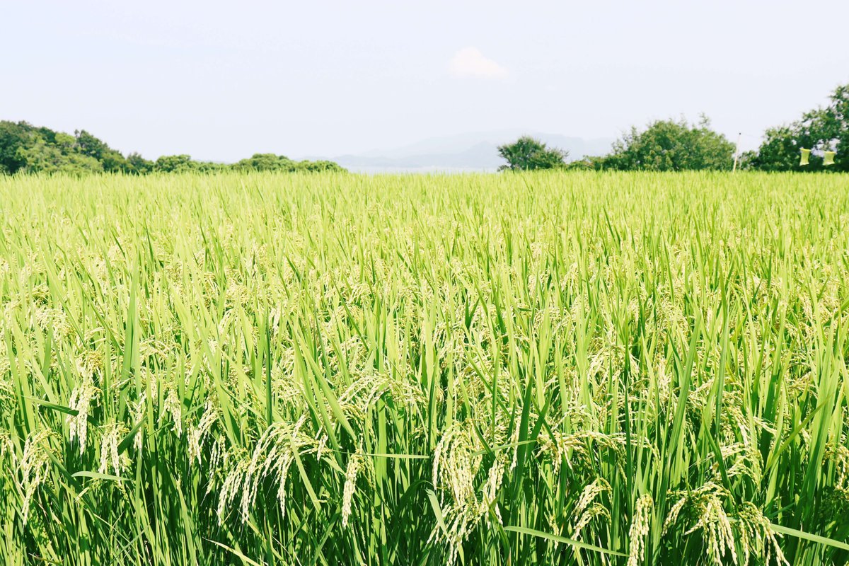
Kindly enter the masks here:
[[0, 556], [844, 564], [849, 177], [0, 177]]

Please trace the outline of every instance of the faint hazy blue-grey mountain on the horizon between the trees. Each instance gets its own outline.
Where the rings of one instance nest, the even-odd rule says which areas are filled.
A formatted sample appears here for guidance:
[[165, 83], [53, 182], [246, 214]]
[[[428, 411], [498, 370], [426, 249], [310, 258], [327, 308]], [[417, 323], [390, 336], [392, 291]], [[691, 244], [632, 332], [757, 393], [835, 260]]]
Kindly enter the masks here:
[[[559, 134], [502, 130], [449, 137], [432, 137], [395, 149], [374, 149], [362, 154], [331, 158], [351, 171], [495, 171], [503, 160], [498, 146], [527, 134], [569, 152], [567, 160], [610, 152], [612, 139], [567, 137]], [[311, 158], [312, 159], [312, 158]]]

